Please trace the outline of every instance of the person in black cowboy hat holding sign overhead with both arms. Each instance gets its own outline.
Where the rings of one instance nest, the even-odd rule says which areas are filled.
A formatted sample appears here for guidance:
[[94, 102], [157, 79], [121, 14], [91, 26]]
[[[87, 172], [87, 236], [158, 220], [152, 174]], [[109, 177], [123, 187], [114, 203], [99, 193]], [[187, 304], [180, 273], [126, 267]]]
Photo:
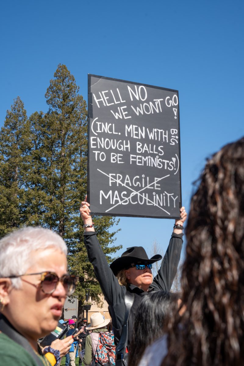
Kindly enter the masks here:
[[134, 303], [131, 308], [128, 325], [128, 346], [132, 336], [132, 328], [136, 309], [144, 292], [151, 290], [170, 291], [177, 266], [180, 259], [183, 236], [183, 223], [187, 213], [185, 208], [180, 209], [180, 219], [175, 221], [172, 237], [168, 249], [162, 261], [161, 268], [154, 277], [151, 266], [160, 260], [161, 255], [149, 258], [143, 247], [131, 247], [117, 258], [111, 265], [108, 262], [97, 240], [92, 218], [90, 216], [89, 203], [82, 202], [80, 214], [85, 228], [85, 245], [89, 261], [93, 264], [95, 275], [99, 281], [102, 292], [109, 304], [109, 312], [112, 316], [115, 344], [121, 335], [125, 317], [125, 293], [134, 294]]

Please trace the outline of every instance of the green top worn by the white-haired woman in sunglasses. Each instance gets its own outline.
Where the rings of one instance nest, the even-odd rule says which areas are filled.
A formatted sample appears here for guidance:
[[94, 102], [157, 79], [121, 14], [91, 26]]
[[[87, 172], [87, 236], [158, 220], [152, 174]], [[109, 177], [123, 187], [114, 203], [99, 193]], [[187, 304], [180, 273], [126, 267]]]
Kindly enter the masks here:
[[[43, 365], [49, 366], [46, 358], [39, 356]], [[18, 343], [0, 332], [0, 363], [3, 366], [37, 366], [32, 356]]]

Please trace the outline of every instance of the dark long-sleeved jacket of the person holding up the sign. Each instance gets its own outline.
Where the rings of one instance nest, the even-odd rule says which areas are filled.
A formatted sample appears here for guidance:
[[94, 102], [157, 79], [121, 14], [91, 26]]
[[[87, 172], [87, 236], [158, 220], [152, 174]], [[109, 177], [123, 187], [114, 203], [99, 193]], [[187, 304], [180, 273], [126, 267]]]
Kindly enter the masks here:
[[[169, 246], [162, 260], [161, 267], [158, 270], [158, 274], [154, 277], [153, 283], [149, 287], [149, 291], [170, 291], [180, 260], [183, 243], [182, 236], [183, 234], [174, 233], [171, 235]], [[121, 328], [124, 323], [124, 297], [127, 288], [119, 284], [116, 276], [109, 268], [107, 259], [98, 242], [96, 233], [94, 231], [86, 231], [84, 233], [84, 242], [86, 245], [89, 261], [91, 264], [93, 264], [95, 276], [97, 277], [97, 280], [101, 286], [105, 300], [109, 305], [109, 313], [112, 317], [113, 331], [115, 333], [115, 344], [117, 344], [121, 335]], [[132, 337], [136, 309], [139, 305], [141, 297], [140, 295], [144, 291], [134, 285], [129, 285], [128, 291], [134, 293], [134, 303], [131, 308], [128, 322], [129, 345]]]

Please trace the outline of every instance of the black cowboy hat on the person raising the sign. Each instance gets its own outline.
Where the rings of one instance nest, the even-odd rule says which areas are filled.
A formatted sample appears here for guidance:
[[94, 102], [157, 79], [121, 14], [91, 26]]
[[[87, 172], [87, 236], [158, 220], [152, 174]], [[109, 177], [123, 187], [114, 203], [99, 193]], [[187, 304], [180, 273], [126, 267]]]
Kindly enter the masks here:
[[140, 264], [140, 263], [154, 263], [160, 261], [162, 259], [162, 255], [156, 254], [150, 259], [147, 257], [147, 253], [143, 247], [131, 247], [128, 248], [120, 258], [115, 259], [110, 264], [110, 268], [113, 271], [113, 274], [116, 276], [117, 273], [121, 269], [128, 268], [132, 263]]

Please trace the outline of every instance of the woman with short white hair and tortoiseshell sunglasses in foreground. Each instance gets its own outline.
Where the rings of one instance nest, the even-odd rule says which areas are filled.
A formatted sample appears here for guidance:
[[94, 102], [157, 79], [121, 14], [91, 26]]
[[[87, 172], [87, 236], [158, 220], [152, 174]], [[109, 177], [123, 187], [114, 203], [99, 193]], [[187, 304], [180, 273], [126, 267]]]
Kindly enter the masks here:
[[[26, 227], [0, 240], [2, 365], [49, 365], [37, 345], [57, 326], [77, 279], [67, 273], [67, 247], [54, 232]], [[67, 339], [67, 352], [72, 341]], [[49, 348], [50, 356], [59, 352]]]

